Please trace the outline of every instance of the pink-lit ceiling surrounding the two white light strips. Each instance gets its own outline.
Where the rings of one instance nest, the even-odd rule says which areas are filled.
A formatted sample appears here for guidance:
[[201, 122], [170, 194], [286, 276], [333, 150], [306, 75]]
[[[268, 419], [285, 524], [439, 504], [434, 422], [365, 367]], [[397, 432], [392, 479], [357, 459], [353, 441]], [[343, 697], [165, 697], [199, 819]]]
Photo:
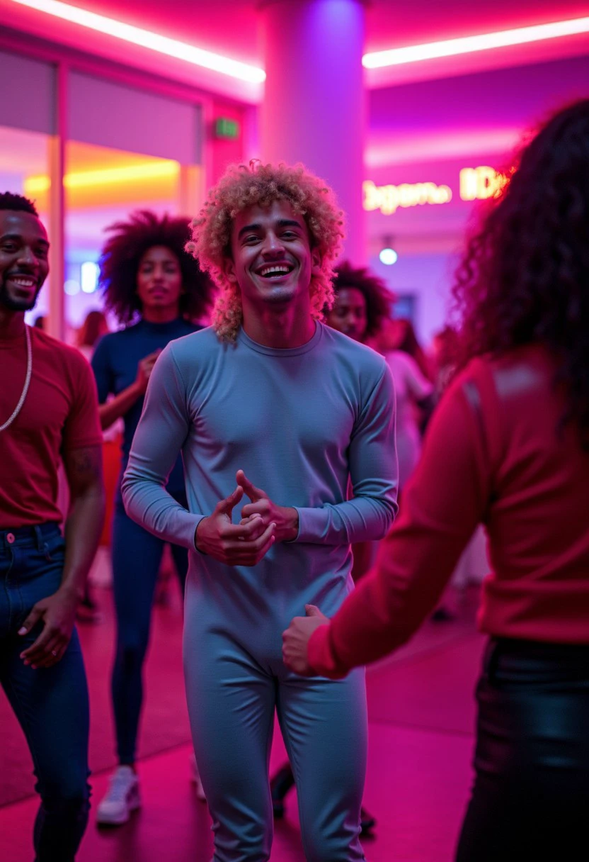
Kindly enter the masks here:
[[[280, 2], [280, 0], [278, 0]], [[288, 38], [288, 6], [285, 0], [284, 33]], [[335, 2], [335, 0], [334, 0]], [[224, 54], [254, 66], [263, 66], [259, 2], [252, 0], [76, 0], [78, 6], [120, 21], [164, 34], [196, 47]], [[419, 45], [457, 36], [485, 34], [508, 28], [587, 16], [586, 0], [370, 0], [366, 12], [366, 50]], [[0, 0], [0, 21], [15, 28], [83, 50], [88, 31], [78, 25], [60, 22], [41, 12], [26, 9], [13, 0]], [[92, 50], [121, 59], [121, 42], [95, 34]], [[475, 69], [513, 66], [543, 59], [555, 59], [589, 51], [589, 37], [573, 36], [542, 41], [528, 46], [468, 54], [457, 59], [433, 60], [369, 73], [371, 86], [399, 81], [464, 74]], [[127, 46], [127, 62], [150, 68], [225, 95], [257, 102], [263, 95], [259, 84], [240, 84], [218, 73], [203, 72], [178, 59], [167, 58], [146, 48]]]

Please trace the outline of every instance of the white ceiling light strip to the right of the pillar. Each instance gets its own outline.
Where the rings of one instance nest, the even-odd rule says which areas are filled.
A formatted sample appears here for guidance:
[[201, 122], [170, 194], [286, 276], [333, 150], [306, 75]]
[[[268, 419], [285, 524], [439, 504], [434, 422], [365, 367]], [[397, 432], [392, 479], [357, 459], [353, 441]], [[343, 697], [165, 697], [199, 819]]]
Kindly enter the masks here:
[[524, 45], [544, 39], [557, 39], [589, 32], [589, 17], [574, 18], [552, 24], [536, 24], [533, 27], [520, 27], [487, 33], [480, 36], [463, 36], [461, 39], [448, 39], [429, 42], [426, 45], [412, 45], [405, 48], [392, 48], [389, 51], [375, 51], [364, 54], [362, 63], [367, 69], [381, 69], [383, 66], [401, 66], [404, 63], [418, 63], [424, 59], [454, 57], [456, 54], [488, 51], [510, 45]]

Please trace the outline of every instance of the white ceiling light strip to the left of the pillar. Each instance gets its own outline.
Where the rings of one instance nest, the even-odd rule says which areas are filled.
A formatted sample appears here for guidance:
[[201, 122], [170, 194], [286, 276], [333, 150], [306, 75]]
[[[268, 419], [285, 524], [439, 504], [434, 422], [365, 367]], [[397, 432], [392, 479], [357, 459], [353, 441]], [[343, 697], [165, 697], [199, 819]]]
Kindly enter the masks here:
[[13, 2], [19, 3], [21, 6], [28, 6], [29, 9], [46, 12], [47, 15], [62, 18], [64, 21], [80, 24], [82, 27], [97, 30], [99, 33], [115, 36], [116, 39], [123, 39], [127, 42], [133, 42], [134, 45], [141, 45], [151, 48], [152, 51], [186, 60], [187, 63], [192, 63], [194, 66], [212, 69], [222, 75], [250, 81], [253, 84], [260, 84], [266, 78], [263, 69], [258, 69], [256, 66], [222, 57], [220, 54], [205, 51], [203, 48], [196, 48], [186, 42], [170, 39], [168, 36], [161, 36], [140, 27], [133, 27], [132, 24], [125, 24], [121, 21], [115, 21], [113, 18], [96, 15], [95, 12], [80, 9], [78, 6], [60, 3], [59, 0], [13, 0]]

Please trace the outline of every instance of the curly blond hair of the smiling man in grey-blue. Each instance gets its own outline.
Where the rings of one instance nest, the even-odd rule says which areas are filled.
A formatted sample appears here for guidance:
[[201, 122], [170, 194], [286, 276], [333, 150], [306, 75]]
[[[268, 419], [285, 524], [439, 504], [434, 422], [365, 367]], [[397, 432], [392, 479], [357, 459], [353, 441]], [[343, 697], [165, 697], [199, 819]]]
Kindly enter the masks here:
[[231, 231], [235, 216], [251, 206], [268, 207], [288, 201], [303, 216], [311, 247], [319, 250], [319, 272], [310, 285], [313, 317], [321, 319], [333, 304], [333, 265], [344, 239], [344, 214], [325, 182], [302, 165], [263, 165], [252, 161], [232, 165], [208, 193], [208, 200], [191, 222], [192, 240], [187, 252], [199, 260], [220, 288], [213, 310], [213, 328], [221, 340], [233, 341], [243, 319], [239, 286], [223, 270], [231, 257]]

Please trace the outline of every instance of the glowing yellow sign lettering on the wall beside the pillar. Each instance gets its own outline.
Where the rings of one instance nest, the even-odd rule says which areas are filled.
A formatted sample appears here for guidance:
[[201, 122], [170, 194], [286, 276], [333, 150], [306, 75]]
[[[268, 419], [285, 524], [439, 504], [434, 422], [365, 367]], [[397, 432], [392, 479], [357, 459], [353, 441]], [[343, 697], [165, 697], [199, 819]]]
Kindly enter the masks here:
[[[484, 201], [499, 197], [511, 174], [499, 173], [492, 167], [465, 167], [459, 174], [460, 197], [463, 201]], [[425, 203], [449, 203], [452, 190], [449, 185], [436, 183], [401, 183], [375, 185], [367, 179], [363, 183], [363, 208], [371, 212], [380, 209], [383, 215], [393, 215], [397, 209], [423, 206]]]

